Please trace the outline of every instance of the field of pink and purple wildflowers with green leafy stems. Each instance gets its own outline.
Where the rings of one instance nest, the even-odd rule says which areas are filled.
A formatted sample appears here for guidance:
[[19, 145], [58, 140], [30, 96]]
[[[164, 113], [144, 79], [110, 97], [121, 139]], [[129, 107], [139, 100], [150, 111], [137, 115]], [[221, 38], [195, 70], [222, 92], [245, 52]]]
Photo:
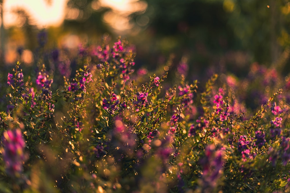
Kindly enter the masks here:
[[45, 43], [1, 70], [0, 192], [290, 192], [288, 76], [189, 82], [184, 61], [135, 70], [120, 37]]

